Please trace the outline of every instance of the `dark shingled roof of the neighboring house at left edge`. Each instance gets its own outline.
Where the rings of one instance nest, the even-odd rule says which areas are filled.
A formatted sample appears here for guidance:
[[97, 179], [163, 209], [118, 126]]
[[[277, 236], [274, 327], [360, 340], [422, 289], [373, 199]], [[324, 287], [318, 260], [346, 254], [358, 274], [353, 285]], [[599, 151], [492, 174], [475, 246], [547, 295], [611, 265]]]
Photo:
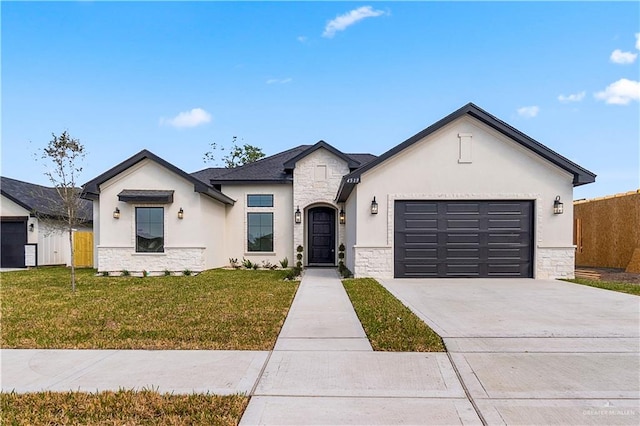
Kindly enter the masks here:
[[[80, 191], [80, 188], [77, 188], [77, 190]], [[53, 187], [36, 185], [2, 176], [0, 192], [30, 213], [50, 217], [65, 217], [64, 214], [61, 214], [62, 201], [58, 191]], [[92, 222], [93, 203], [81, 199], [77, 216], [83, 222]]]

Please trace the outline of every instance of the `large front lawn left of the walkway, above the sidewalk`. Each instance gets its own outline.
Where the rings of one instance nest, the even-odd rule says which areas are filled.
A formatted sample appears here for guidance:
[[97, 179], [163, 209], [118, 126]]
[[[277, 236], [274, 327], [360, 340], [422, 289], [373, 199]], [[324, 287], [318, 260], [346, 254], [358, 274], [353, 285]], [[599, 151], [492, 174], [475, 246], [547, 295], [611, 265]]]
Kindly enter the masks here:
[[5, 272], [3, 348], [272, 349], [297, 289], [284, 271], [102, 277], [65, 268]]

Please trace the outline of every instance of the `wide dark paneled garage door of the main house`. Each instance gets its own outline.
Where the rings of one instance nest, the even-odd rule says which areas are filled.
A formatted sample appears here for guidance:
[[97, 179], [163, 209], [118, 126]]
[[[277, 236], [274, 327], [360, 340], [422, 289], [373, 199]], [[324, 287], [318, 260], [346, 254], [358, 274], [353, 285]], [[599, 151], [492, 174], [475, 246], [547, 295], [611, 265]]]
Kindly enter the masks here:
[[533, 276], [532, 201], [396, 201], [396, 278]]

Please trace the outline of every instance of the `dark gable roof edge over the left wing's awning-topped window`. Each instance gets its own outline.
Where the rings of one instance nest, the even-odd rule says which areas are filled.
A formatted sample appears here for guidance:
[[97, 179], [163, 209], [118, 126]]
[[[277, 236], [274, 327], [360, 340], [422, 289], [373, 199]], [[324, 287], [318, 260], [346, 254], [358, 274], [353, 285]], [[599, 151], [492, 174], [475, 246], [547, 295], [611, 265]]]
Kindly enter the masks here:
[[157, 163], [157, 164], [165, 167], [166, 169], [172, 171], [173, 173], [177, 174], [178, 176], [181, 176], [184, 179], [186, 179], [187, 181], [191, 182], [193, 184], [193, 189], [196, 192], [199, 192], [199, 193], [201, 193], [203, 195], [207, 195], [207, 196], [213, 198], [214, 200], [218, 200], [218, 201], [220, 201], [221, 203], [224, 203], [224, 204], [233, 205], [234, 202], [235, 202], [231, 198], [229, 198], [226, 195], [224, 195], [222, 192], [220, 192], [217, 189], [214, 189], [213, 187], [211, 187], [206, 182], [203, 182], [202, 180], [199, 180], [199, 179], [195, 178], [194, 176], [182, 171], [181, 169], [177, 168], [173, 164], [169, 163], [166, 160], [163, 160], [162, 158], [158, 157], [157, 155], [155, 155], [154, 153], [152, 153], [150, 151], [147, 151], [146, 149], [143, 149], [139, 153], [137, 153], [137, 154], [133, 155], [132, 157], [129, 157], [128, 159], [124, 160], [122, 163], [118, 164], [117, 166], [112, 167], [111, 169], [109, 169], [106, 172], [102, 173], [100, 176], [96, 177], [95, 179], [90, 180], [89, 182], [85, 183], [84, 186], [83, 186], [82, 197], [86, 198], [86, 199], [89, 199], [89, 200], [98, 199], [98, 197], [100, 196], [100, 185], [102, 183], [108, 181], [109, 179], [113, 178], [114, 176], [119, 175], [120, 173], [124, 172], [125, 170], [129, 169], [130, 167], [138, 164], [140, 161], [145, 160], [145, 159], [152, 160], [155, 163]]

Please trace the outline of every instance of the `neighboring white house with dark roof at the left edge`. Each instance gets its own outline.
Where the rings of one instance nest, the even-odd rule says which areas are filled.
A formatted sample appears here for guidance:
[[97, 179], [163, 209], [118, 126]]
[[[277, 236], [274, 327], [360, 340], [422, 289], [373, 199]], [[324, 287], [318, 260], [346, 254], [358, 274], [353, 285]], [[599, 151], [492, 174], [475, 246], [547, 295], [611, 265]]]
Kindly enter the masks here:
[[[24, 268], [25, 245], [35, 246], [38, 266], [69, 265], [69, 236], [54, 224], [60, 219], [59, 204], [57, 205], [60, 197], [56, 189], [3, 176], [0, 192], [1, 267]], [[90, 234], [93, 221], [91, 203], [81, 201], [82, 210], [78, 217], [84, 220], [84, 224], [77, 227], [78, 236], [81, 233], [83, 236], [84, 233]]]

